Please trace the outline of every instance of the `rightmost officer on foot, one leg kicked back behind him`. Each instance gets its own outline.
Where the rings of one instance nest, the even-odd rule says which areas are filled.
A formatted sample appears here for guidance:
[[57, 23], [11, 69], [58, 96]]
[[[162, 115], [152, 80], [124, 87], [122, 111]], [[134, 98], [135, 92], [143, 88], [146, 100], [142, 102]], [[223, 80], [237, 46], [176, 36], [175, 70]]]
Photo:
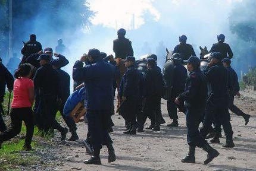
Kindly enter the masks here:
[[243, 119], [245, 119], [245, 125], [247, 125], [251, 115], [243, 113], [242, 110], [234, 105], [234, 96], [240, 96], [238, 75], [236, 74], [236, 71], [230, 66], [231, 60], [229, 58], [224, 58], [222, 63], [227, 68], [227, 71], [229, 71], [229, 81], [227, 83], [227, 90], [229, 91], [229, 110], [238, 116], [243, 116]]

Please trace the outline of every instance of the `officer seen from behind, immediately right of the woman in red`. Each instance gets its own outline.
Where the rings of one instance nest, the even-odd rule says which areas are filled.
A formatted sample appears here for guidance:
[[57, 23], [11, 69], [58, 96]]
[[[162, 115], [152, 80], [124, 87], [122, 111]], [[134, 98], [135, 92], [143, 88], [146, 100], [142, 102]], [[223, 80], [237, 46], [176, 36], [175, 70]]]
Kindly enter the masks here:
[[68, 132], [55, 120], [56, 105], [60, 103], [60, 81], [58, 72], [49, 64], [51, 56], [42, 54], [39, 56], [40, 68], [36, 70], [34, 77], [35, 95], [38, 106], [36, 107], [36, 121], [39, 130], [43, 129], [48, 134], [49, 129], [57, 129], [61, 132], [61, 141], [65, 140]]

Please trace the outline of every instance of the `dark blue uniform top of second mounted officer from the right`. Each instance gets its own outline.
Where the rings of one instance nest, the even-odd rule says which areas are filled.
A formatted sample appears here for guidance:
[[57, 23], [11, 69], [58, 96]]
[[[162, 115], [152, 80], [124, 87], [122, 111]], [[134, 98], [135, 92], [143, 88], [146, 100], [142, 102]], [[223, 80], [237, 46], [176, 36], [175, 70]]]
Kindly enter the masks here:
[[180, 53], [182, 60], [189, 59], [190, 56], [195, 56], [195, 51], [193, 50], [192, 45], [187, 43], [180, 43], [174, 47], [173, 54]]

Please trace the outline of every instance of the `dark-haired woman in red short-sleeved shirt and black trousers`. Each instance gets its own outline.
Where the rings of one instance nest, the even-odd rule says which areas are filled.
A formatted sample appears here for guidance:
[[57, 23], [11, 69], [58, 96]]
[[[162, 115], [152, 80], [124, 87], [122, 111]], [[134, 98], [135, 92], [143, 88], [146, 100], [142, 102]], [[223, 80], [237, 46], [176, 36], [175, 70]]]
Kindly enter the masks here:
[[31, 150], [34, 132], [33, 111], [34, 84], [29, 79], [31, 68], [29, 64], [21, 64], [14, 74], [13, 102], [11, 103], [11, 128], [0, 134], [0, 148], [4, 141], [10, 140], [21, 131], [22, 121], [26, 125], [24, 150]]

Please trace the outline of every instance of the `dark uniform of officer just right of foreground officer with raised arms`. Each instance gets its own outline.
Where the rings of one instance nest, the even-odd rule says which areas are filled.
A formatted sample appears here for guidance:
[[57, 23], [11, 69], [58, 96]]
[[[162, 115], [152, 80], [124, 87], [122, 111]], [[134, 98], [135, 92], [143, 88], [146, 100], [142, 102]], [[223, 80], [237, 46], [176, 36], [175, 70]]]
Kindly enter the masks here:
[[126, 97], [122, 105], [121, 115], [127, 124], [136, 125], [136, 113], [138, 111], [138, 100], [140, 96], [139, 84], [141, 80], [141, 73], [135, 65], [127, 68], [120, 83], [119, 96]]

